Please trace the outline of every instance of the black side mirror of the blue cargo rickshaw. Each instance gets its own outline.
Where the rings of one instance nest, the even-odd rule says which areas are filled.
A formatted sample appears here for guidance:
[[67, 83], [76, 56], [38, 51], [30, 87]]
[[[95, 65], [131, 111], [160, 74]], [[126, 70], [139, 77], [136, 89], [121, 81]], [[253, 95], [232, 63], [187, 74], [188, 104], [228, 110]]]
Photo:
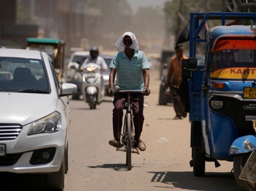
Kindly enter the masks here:
[[192, 77], [192, 72], [197, 70], [197, 58], [182, 59], [182, 76]]

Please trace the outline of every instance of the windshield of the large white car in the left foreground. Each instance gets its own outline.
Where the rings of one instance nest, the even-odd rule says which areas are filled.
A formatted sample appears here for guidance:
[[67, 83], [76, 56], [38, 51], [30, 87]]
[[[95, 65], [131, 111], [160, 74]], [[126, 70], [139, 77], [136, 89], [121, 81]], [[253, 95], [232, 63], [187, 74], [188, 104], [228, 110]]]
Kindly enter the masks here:
[[49, 93], [48, 84], [41, 60], [0, 57], [0, 91]]

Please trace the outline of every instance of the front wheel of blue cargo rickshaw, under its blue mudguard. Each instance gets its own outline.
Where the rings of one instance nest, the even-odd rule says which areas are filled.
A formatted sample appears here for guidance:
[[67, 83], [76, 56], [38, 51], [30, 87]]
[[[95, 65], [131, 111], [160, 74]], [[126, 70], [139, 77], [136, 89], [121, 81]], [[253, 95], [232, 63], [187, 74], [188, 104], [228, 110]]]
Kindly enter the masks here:
[[256, 184], [254, 184], [253, 182], [239, 179], [242, 169], [245, 166], [250, 154], [251, 154], [251, 152], [235, 155], [235, 157], [234, 157], [233, 166], [234, 166], [235, 180], [236, 180], [237, 185], [243, 191], [256, 191]]

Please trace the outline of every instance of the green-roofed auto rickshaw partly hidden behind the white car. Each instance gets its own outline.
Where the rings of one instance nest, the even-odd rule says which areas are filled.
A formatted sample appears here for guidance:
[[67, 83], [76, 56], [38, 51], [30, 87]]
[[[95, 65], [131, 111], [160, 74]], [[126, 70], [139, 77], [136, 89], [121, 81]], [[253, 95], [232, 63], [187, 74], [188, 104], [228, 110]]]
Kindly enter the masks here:
[[46, 52], [54, 61], [54, 68], [61, 84], [65, 82], [64, 74], [64, 47], [65, 41], [54, 38], [27, 38], [28, 50]]

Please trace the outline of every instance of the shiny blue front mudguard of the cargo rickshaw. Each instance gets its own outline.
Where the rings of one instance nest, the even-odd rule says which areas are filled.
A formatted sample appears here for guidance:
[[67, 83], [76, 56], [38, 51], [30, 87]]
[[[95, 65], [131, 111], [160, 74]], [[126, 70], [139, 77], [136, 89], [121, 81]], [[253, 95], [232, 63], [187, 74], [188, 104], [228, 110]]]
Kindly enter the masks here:
[[229, 155], [236, 155], [241, 153], [249, 153], [254, 151], [256, 148], [256, 135], [241, 136], [234, 140], [230, 149]]

